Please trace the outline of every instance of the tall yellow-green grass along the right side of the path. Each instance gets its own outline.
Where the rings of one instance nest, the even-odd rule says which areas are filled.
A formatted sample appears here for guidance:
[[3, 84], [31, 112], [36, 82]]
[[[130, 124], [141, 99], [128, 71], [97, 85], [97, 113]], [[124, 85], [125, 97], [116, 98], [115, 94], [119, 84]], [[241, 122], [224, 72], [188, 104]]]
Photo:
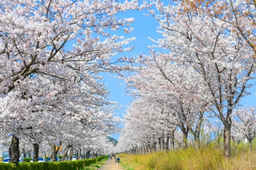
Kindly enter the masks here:
[[237, 147], [231, 159], [223, 157], [218, 147], [195, 150], [156, 152], [149, 155], [120, 154], [120, 164], [125, 170], [252, 170], [256, 169], [256, 152], [248, 147]]

